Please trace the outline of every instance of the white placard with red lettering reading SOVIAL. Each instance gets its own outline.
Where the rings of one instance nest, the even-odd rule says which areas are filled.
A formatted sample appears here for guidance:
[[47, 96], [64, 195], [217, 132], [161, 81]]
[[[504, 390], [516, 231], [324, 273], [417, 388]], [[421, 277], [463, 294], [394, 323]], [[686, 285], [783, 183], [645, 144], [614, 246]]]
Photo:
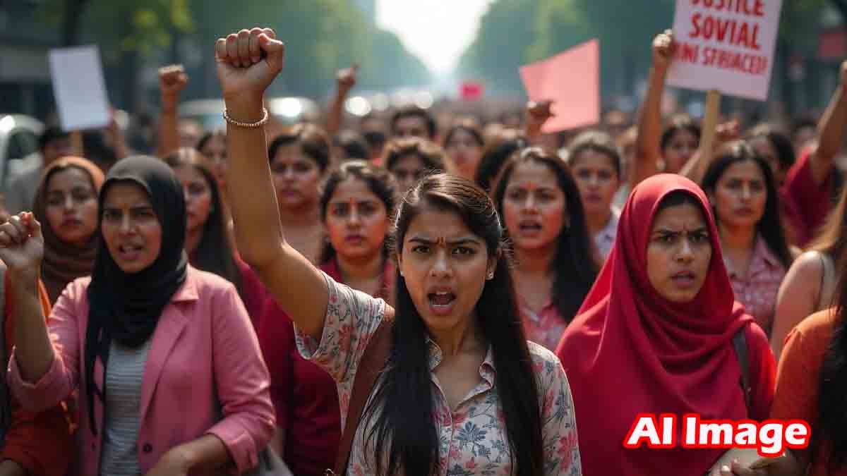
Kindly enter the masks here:
[[667, 85], [764, 101], [782, 0], [677, 0]]

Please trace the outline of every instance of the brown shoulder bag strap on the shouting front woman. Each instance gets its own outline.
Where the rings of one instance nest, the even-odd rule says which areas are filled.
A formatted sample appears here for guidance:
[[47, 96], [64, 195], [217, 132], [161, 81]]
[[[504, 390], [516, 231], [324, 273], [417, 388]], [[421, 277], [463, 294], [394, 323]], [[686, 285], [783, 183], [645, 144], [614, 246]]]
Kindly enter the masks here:
[[362, 419], [368, 396], [374, 390], [374, 385], [379, 374], [385, 368], [391, 351], [391, 327], [394, 324], [394, 308], [385, 305], [385, 315], [382, 323], [376, 329], [374, 336], [365, 347], [362, 360], [353, 379], [353, 389], [350, 395], [350, 407], [347, 410], [347, 419], [341, 439], [338, 445], [338, 456], [335, 458], [335, 472], [327, 470], [326, 474], [342, 475], [347, 471], [347, 463], [350, 460], [350, 451], [353, 446], [353, 438], [359, 420]]

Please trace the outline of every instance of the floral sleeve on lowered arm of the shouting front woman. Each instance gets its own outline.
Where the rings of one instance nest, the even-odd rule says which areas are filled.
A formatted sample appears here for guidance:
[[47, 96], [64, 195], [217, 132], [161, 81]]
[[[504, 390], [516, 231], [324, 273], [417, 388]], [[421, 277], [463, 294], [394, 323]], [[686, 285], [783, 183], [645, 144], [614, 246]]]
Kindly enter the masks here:
[[581, 476], [573, 397], [562, 363], [551, 351], [529, 342], [541, 402], [545, 476]]

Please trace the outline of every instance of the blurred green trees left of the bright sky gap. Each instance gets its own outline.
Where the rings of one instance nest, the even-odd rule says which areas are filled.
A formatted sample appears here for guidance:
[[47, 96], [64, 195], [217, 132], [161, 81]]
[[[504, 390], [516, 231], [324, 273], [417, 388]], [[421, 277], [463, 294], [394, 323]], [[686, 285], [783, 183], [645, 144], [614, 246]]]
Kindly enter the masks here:
[[[125, 108], [136, 102], [143, 64], [180, 59], [174, 41], [192, 45], [202, 57], [186, 97], [217, 96], [214, 42], [252, 26], [274, 28], [287, 48], [285, 74], [272, 94], [324, 96], [335, 87], [335, 70], [353, 63], [361, 64], [363, 88], [429, 82], [420, 59], [349, 0], [47, 0], [42, 16], [61, 28], [65, 45], [100, 46], [109, 88]], [[163, 55], [169, 48], [171, 54]]]

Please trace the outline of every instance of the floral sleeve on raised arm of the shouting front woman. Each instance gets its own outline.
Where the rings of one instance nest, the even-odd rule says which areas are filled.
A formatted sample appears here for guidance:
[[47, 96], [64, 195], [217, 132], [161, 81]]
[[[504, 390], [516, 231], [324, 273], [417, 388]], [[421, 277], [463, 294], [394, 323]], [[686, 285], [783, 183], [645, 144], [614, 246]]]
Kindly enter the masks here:
[[[349, 398], [365, 347], [382, 322], [385, 302], [323, 274], [329, 297], [324, 332], [317, 342], [295, 325], [297, 350], [303, 358], [327, 371], [338, 383], [341, 393], [346, 390]], [[344, 395], [339, 397], [344, 399]], [[342, 403], [342, 407], [346, 408], [346, 405]]]

